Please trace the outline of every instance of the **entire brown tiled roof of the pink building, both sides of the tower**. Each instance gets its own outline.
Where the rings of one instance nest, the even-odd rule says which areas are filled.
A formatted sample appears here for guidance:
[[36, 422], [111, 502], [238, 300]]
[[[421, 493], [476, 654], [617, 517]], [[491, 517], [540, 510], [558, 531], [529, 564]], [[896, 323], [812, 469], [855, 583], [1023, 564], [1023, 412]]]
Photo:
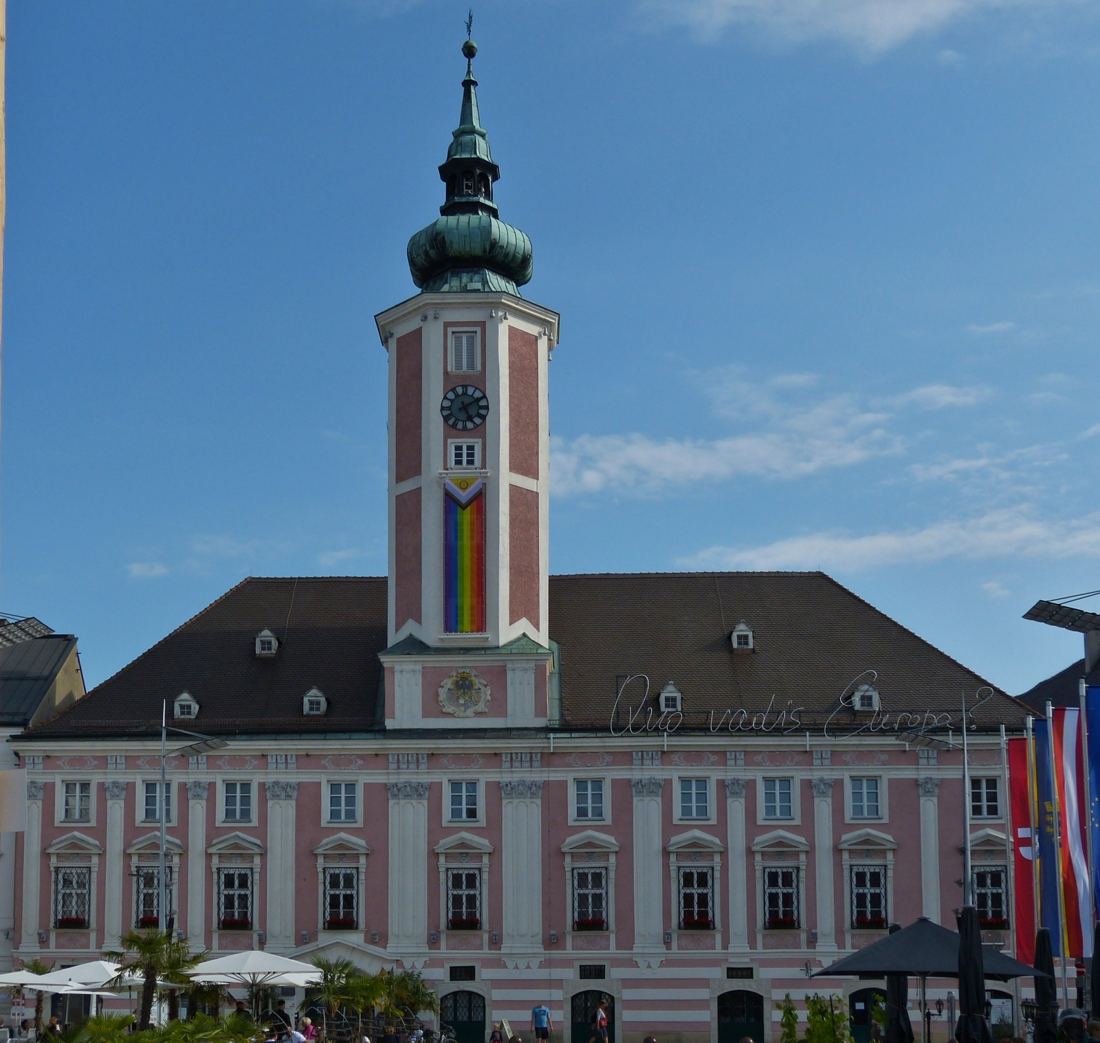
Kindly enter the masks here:
[[[733, 654], [745, 620], [756, 651]], [[255, 635], [282, 642], [256, 658]], [[804, 708], [820, 726], [868, 670], [883, 707], [958, 718], [964, 692], [987, 685], [823, 573], [668, 573], [552, 576], [550, 634], [561, 650], [562, 724], [605, 730], [618, 685], [648, 675], [650, 695], [674, 681], [685, 725], [708, 711]], [[246, 579], [80, 702], [29, 735], [125, 735], [158, 725], [161, 701], [188, 691], [195, 728], [218, 733], [362, 732], [375, 726], [377, 654], [386, 640], [386, 579]], [[324, 717], [304, 717], [314, 686]], [[625, 702], [637, 702], [628, 689]], [[632, 695], [631, 695], [632, 692]], [[843, 711], [850, 720], [849, 711]], [[1022, 724], [1023, 707], [994, 691], [977, 713], [986, 726]], [[380, 722], [381, 723], [381, 722]], [[850, 725], [849, 725], [850, 726]]]

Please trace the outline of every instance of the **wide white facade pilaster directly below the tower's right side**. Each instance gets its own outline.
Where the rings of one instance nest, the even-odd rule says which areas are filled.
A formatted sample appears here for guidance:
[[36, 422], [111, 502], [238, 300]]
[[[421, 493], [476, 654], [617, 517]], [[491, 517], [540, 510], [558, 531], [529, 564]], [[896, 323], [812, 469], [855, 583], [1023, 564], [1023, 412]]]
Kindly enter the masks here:
[[[508, 669], [510, 690], [512, 667]], [[501, 952], [530, 953], [542, 948], [542, 783], [507, 779], [501, 783]]]

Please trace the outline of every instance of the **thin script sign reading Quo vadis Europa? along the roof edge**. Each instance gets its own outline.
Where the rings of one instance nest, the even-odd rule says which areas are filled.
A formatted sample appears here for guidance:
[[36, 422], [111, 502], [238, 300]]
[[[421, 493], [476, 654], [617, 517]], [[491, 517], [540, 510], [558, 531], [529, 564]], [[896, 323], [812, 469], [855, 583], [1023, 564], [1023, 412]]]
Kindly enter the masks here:
[[[878, 679], [876, 670], [864, 670], [840, 692], [836, 707], [825, 720], [822, 731], [826, 739], [853, 739], [856, 735], [870, 734], [893, 734], [901, 735], [916, 733], [927, 734], [932, 731], [945, 731], [949, 729], [961, 730], [964, 711], [960, 708], [958, 713], [943, 710], [902, 710], [897, 713], [886, 711], [881, 704], [881, 698], [877, 699], [877, 706], [867, 712], [869, 717], [859, 722], [853, 722], [850, 728], [843, 730], [840, 725], [850, 720], [850, 715], [859, 711], [857, 699], [862, 691], [866, 691]], [[631, 685], [635, 689], [640, 686], [641, 701], [637, 706], [624, 704], [624, 696]], [[993, 690], [989, 687], [979, 688], [976, 692], [978, 701], [967, 709], [966, 715], [971, 719], [975, 710], [988, 702], [993, 697]], [[728, 731], [733, 734], [737, 732], [776, 732], [780, 735], [790, 735], [794, 732], [806, 731], [803, 723], [803, 714], [806, 708], [795, 706], [793, 699], [788, 699], [787, 704], [777, 706], [776, 697], [772, 696], [765, 710], [750, 712], [744, 707], [729, 710], [710, 710], [704, 720], [707, 731], [712, 733]], [[844, 714], [838, 721], [837, 715]], [[672, 734], [680, 730], [684, 723], [684, 713], [681, 710], [661, 710], [652, 706], [649, 698], [649, 677], [645, 674], [631, 674], [622, 685], [615, 696], [615, 706], [612, 708], [608, 726], [612, 735], [616, 739], [623, 735], [647, 735], [647, 734]]]

